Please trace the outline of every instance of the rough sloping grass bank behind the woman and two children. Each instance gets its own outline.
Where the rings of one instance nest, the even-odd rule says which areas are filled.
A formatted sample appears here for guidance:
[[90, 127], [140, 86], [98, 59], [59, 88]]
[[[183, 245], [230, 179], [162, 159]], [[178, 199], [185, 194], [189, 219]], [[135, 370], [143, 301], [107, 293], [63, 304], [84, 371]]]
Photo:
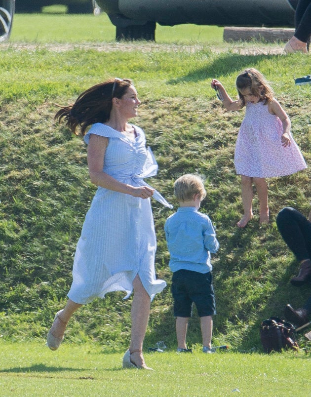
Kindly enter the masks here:
[[[66, 299], [75, 246], [95, 192], [88, 180], [81, 138], [53, 122], [55, 103], [66, 104], [90, 85], [118, 76], [133, 79], [142, 100], [139, 116], [133, 121], [145, 129], [159, 164], [158, 175], [150, 183], [176, 204], [172, 187], [178, 176], [197, 172], [206, 180], [202, 211], [213, 220], [221, 244], [219, 253], [213, 255], [218, 311], [213, 344], [260, 351], [260, 321], [282, 316], [288, 302], [301, 306], [310, 291], [308, 286], [295, 289], [289, 284], [298, 265], [275, 225], [275, 216], [285, 205], [308, 214], [310, 169], [269, 181], [269, 226], [258, 225], [255, 197], [255, 219], [244, 230], [237, 229], [241, 200], [233, 153], [243, 112], [226, 112], [210, 88], [210, 80], [221, 79], [234, 96], [234, 80], [240, 70], [249, 66], [261, 70], [291, 117], [293, 135], [310, 163], [311, 90], [293, 82], [294, 75], [310, 73], [307, 58], [303, 54], [263, 54], [256, 47], [243, 55], [229, 44], [222, 44], [222, 51], [209, 43], [191, 48], [173, 43], [160, 47], [151, 43], [119, 45], [120, 49], [113, 51], [109, 46], [105, 51], [83, 46], [53, 51], [40, 44], [32, 49], [27, 44], [1, 49], [3, 339], [45, 337], [54, 313]], [[171, 274], [163, 234], [171, 211], [155, 201], [153, 207], [158, 239], [156, 271], [168, 287], [153, 302], [146, 346], [164, 340], [174, 349]], [[131, 300], [122, 301], [122, 296], [110, 294], [82, 308], [68, 327], [66, 342], [96, 341], [105, 351], [123, 351], [129, 341]], [[200, 343], [195, 312], [188, 334], [190, 346]], [[299, 339], [302, 347], [308, 347], [303, 336]]]

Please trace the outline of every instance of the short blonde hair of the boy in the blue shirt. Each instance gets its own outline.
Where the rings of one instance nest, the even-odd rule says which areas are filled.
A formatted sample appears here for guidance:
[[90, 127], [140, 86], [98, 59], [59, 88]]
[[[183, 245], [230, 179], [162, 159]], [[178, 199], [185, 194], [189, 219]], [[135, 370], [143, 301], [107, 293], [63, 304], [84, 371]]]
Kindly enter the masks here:
[[206, 197], [206, 190], [202, 179], [198, 175], [185, 174], [176, 179], [174, 183], [174, 195], [179, 201], [189, 201], [196, 194], [201, 200]]

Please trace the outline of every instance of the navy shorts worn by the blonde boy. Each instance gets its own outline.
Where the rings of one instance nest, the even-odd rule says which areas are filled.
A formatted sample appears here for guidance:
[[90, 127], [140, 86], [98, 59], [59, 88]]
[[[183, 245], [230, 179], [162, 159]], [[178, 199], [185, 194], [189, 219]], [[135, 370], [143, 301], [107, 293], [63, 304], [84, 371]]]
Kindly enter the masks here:
[[178, 270], [172, 276], [172, 295], [174, 316], [191, 317], [192, 304], [196, 306], [199, 317], [216, 314], [212, 274], [191, 270]]

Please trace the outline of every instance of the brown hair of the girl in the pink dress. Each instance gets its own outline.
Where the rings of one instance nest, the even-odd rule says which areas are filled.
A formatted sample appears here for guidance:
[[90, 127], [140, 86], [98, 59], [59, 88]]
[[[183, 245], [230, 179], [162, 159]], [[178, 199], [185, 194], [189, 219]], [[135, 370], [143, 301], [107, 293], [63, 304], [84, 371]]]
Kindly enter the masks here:
[[273, 90], [268, 81], [257, 69], [245, 69], [236, 78], [236, 88], [242, 105], [245, 106], [245, 99], [241, 94], [241, 89], [250, 89], [251, 93], [259, 96], [264, 105], [267, 105], [273, 99]]

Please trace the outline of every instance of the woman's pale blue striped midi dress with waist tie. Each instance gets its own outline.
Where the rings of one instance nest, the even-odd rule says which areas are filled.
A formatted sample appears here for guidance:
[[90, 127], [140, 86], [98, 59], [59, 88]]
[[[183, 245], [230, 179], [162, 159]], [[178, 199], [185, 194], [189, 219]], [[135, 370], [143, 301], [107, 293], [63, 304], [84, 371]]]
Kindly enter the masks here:
[[[133, 127], [135, 142], [102, 123], [93, 124], [84, 141], [88, 143], [90, 134], [107, 137], [103, 171], [125, 184], [149, 186], [143, 178], [156, 175], [157, 164], [146, 148], [144, 131]], [[158, 192], [153, 198], [172, 208]], [[95, 297], [104, 298], [107, 292], [125, 291], [128, 298], [138, 274], [153, 299], [166, 286], [156, 279], [155, 253], [150, 199], [98, 187], [78, 240], [68, 297], [85, 304]]]

